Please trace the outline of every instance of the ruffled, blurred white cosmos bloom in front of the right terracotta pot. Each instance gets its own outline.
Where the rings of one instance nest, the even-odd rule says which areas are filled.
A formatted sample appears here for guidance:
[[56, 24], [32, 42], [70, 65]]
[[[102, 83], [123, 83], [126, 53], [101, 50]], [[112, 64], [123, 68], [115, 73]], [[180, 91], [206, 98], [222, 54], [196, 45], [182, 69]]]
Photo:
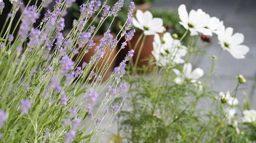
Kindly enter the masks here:
[[169, 32], [163, 34], [160, 38], [159, 34], [154, 35], [152, 55], [156, 59], [156, 64], [166, 66], [168, 63], [184, 63], [184, 57], [187, 54], [187, 47], [181, 45], [179, 40], [173, 39]]

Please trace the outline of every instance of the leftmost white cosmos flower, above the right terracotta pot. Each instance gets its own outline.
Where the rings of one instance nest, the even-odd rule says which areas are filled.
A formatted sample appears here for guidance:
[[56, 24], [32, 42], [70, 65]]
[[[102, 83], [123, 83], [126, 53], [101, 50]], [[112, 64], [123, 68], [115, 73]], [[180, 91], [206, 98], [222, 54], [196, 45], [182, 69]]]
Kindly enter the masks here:
[[133, 17], [133, 26], [143, 30], [145, 35], [154, 35], [165, 30], [163, 19], [153, 18], [149, 11], [143, 13], [141, 10], [137, 10], [136, 18], [137, 20]]

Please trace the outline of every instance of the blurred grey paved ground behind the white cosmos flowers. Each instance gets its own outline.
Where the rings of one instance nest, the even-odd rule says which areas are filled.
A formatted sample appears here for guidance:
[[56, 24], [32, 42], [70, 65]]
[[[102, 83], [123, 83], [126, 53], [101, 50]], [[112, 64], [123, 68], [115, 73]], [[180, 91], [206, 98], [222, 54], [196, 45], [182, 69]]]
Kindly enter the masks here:
[[[235, 76], [243, 74], [247, 83], [240, 87], [238, 100], [242, 103], [243, 92], [246, 92], [252, 101], [252, 108], [256, 109], [256, 0], [157, 0], [152, 7], [173, 9], [180, 4], [186, 4], [188, 10], [201, 8], [210, 16], [216, 16], [223, 20], [226, 27], [233, 27], [234, 32], [244, 34], [245, 41], [243, 44], [250, 48], [249, 53], [245, 59], [237, 60], [228, 52], [222, 52], [212, 77], [213, 90], [233, 91], [237, 83]], [[212, 55], [217, 55], [220, 48], [220, 45], [215, 41], [207, 48], [207, 51]], [[204, 56], [198, 58], [193, 63], [193, 67], [199, 67], [208, 74], [211, 67], [210, 63], [210, 57]], [[207, 102], [200, 102], [199, 106], [207, 106]], [[111, 132], [108, 132], [103, 138], [103, 143], [107, 142], [107, 138], [112, 132], [116, 132], [116, 126], [112, 126], [109, 130]]]

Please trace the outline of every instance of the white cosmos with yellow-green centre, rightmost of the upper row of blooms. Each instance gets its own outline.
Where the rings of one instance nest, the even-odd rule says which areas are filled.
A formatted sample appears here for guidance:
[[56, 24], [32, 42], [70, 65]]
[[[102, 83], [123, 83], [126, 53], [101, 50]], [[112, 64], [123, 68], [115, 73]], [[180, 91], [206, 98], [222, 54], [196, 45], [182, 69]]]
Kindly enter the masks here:
[[244, 35], [242, 33], [233, 34], [233, 28], [228, 27], [225, 29], [222, 26], [218, 34], [218, 40], [221, 47], [228, 51], [234, 58], [243, 59], [244, 55], [249, 52], [249, 48], [245, 45], [240, 45], [244, 42]]

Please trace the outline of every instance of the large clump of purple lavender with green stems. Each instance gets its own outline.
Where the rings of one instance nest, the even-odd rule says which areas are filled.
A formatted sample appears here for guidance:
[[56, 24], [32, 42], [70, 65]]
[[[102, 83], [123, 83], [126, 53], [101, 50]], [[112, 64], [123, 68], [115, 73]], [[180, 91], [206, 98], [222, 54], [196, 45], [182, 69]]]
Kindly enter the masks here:
[[[95, 33], [105, 19], [118, 15], [124, 0], [118, 0], [111, 10], [107, 2], [101, 3], [100, 0], [82, 4], [80, 18], [73, 21], [73, 28], [66, 36], [62, 33], [65, 28], [63, 17], [75, 0], [56, 0], [53, 10], [47, 10], [40, 24], [35, 25], [42, 9], [51, 2], [53, 0], [43, 0], [39, 7], [28, 3], [20, 19], [13, 21], [23, 3], [20, 0], [11, 1], [12, 11], [0, 33], [0, 140], [100, 141], [106, 129], [117, 120], [116, 114], [126, 100], [124, 96], [120, 105], [114, 105], [111, 117], [105, 125], [101, 125], [107, 118], [108, 106], [127, 88], [125, 83], [120, 84], [120, 78], [126, 72], [125, 62], [131, 59], [134, 51], [126, 55], [105, 81], [106, 73], [102, 69], [107, 70], [109, 66], [100, 60], [109, 60], [104, 55], [114, 54], [121, 37], [125, 36], [125, 43], [132, 39], [135, 30], [128, 30], [132, 26], [135, 5], [130, 3], [127, 22], [119, 32], [121, 34], [114, 37], [108, 29], [90, 61], [78, 67], [81, 58], [95, 46]], [[0, 0], [0, 13], [2, 10], [4, 2]], [[96, 26], [88, 22], [93, 15], [102, 15]], [[12, 31], [10, 27], [13, 25], [15, 28]], [[18, 34], [14, 35], [16, 28], [19, 28]], [[77, 58], [73, 61], [75, 56]], [[100, 89], [106, 85], [105, 99], [98, 101], [97, 97], [104, 91]], [[101, 103], [98, 109], [93, 108], [96, 102]], [[94, 129], [90, 130], [92, 126]], [[102, 126], [105, 127], [101, 132]]]

